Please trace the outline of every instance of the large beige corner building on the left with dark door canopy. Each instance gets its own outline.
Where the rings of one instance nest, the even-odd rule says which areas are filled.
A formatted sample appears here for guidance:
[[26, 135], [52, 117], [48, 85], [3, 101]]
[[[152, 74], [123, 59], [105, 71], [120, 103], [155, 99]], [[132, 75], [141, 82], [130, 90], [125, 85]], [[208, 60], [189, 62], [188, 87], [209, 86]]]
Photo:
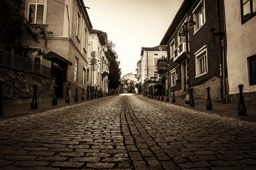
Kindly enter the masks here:
[[[70, 87], [71, 97], [87, 88], [88, 37], [92, 29], [84, 2], [79, 0], [29, 0], [23, 1], [26, 20], [35, 33], [44, 28], [53, 34], [40, 34], [35, 40], [25, 34], [22, 45], [43, 52], [41, 63], [51, 68], [55, 77], [57, 96], [65, 97]], [[47, 40], [47, 41], [46, 41]]]

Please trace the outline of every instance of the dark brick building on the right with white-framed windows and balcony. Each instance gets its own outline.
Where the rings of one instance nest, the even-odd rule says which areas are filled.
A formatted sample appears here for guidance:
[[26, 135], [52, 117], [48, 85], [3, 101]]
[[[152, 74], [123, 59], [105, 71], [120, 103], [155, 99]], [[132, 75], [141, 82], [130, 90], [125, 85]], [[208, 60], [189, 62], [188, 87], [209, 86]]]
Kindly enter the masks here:
[[[222, 0], [183, 1], [162, 38], [160, 44], [168, 48], [168, 89], [175, 95], [185, 96], [190, 87], [194, 98], [206, 99], [210, 87], [213, 100], [226, 102], [223, 7]], [[185, 27], [189, 20], [195, 22], [191, 28]]]

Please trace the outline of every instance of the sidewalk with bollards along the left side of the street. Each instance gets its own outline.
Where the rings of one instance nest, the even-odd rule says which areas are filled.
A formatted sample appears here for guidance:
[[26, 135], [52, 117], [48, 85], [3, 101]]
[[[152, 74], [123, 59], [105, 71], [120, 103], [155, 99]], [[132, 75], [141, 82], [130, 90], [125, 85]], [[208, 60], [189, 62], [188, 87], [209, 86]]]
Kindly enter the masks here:
[[92, 101], [95, 99], [97, 98], [89, 99], [89, 100], [85, 98], [84, 101], [81, 101], [81, 99], [78, 99], [78, 102], [74, 102], [74, 98], [70, 98], [70, 103], [65, 104], [65, 98], [58, 98], [57, 106], [52, 106], [52, 100], [38, 101], [38, 109], [30, 109], [30, 104], [32, 99], [30, 102], [22, 102], [22, 103], [7, 102], [2, 104], [4, 107], [4, 112], [3, 112], [3, 115], [0, 116], [0, 120], [4, 118], [10, 118], [10, 117], [19, 117], [22, 115], [37, 114], [40, 112], [44, 112], [46, 110], [56, 109], [64, 106], [71, 106], [74, 104]]

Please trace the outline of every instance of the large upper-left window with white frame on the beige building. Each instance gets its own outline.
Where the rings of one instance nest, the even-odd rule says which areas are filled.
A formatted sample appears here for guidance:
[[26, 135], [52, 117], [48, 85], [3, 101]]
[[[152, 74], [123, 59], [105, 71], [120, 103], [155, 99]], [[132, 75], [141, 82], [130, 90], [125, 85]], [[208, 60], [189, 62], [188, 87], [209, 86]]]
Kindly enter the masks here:
[[46, 23], [46, 0], [28, 1], [28, 21], [29, 23]]

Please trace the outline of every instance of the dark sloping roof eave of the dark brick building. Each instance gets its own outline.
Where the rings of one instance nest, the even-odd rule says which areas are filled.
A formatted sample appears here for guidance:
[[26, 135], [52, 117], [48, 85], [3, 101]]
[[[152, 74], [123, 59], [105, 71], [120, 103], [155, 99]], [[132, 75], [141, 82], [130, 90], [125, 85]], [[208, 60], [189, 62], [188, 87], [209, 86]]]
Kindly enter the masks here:
[[188, 10], [191, 8], [193, 3], [196, 0], [184, 0], [182, 3], [182, 6], [180, 6], [180, 9], [178, 9], [178, 12], [176, 13], [174, 19], [172, 20], [172, 23], [170, 24], [169, 28], [166, 31], [166, 34], [164, 34], [164, 37], [162, 37], [162, 40], [160, 42], [160, 45], [167, 45], [169, 44], [170, 37], [174, 32], [176, 31], [176, 28], [180, 21], [182, 21], [183, 17], [187, 14]]

